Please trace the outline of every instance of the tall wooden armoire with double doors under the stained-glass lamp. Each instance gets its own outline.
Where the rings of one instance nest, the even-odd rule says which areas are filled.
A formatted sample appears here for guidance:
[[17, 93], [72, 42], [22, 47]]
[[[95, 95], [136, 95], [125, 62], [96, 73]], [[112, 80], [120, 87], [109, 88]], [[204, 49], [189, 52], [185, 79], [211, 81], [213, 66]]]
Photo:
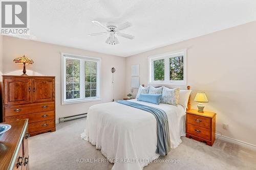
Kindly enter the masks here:
[[29, 119], [30, 136], [55, 131], [55, 77], [3, 76], [3, 120]]

